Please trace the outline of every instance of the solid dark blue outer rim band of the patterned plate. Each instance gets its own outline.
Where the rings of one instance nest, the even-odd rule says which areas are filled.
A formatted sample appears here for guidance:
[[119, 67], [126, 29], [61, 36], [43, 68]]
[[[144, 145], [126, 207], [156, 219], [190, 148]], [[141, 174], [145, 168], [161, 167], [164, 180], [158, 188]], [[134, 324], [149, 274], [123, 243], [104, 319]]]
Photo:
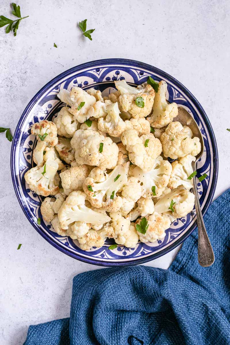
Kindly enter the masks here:
[[123, 64], [123, 65], [127, 65], [127, 66], [135, 66], [138, 68], [144, 68], [144, 69], [148, 69], [154, 73], [158, 73], [160, 74], [162, 77], [167, 78], [168, 80], [170, 80], [171, 82], [173, 82], [174, 84], [177, 85], [177, 87], [179, 87], [185, 94], [186, 96], [192, 100], [192, 102], [194, 103], [194, 105], [197, 107], [197, 109], [199, 110], [202, 118], [206, 121], [206, 125], [207, 128], [209, 130], [210, 133], [210, 140], [212, 142], [212, 147], [213, 147], [213, 179], [211, 182], [211, 188], [210, 188], [210, 193], [208, 196], [208, 199], [206, 200], [206, 203], [202, 209], [202, 214], [204, 215], [208, 209], [208, 207], [210, 206], [215, 190], [216, 190], [216, 185], [217, 185], [217, 178], [218, 178], [218, 149], [217, 149], [217, 143], [216, 143], [216, 138], [212, 129], [212, 126], [210, 124], [210, 121], [206, 115], [206, 112], [204, 111], [203, 107], [201, 106], [201, 104], [199, 103], [199, 101], [196, 99], [196, 97], [194, 97], [192, 95], [192, 93], [181, 83], [179, 82], [176, 78], [172, 77], [171, 75], [169, 75], [168, 73], [162, 71], [161, 69], [154, 67], [152, 65], [149, 65], [147, 63], [141, 62], [141, 61], [137, 61], [137, 60], [131, 60], [131, 59], [122, 59], [122, 58], [114, 58], [114, 59], [100, 59], [100, 60], [93, 60], [93, 61], [89, 61], [86, 63], [82, 63], [78, 66], [74, 66], [62, 73], [60, 73], [58, 76], [54, 77], [53, 79], [51, 79], [48, 83], [46, 83], [46, 85], [44, 85], [37, 93], [36, 95], [29, 101], [28, 105], [26, 106], [26, 108], [24, 109], [24, 111], [22, 112], [22, 115], [19, 118], [17, 127], [15, 129], [14, 132], [14, 136], [13, 136], [13, 141], [12, 141], [12, 147], [11, 147], [11, 156], [10, 156], [10, 165], [11, 165], [11, 178], [12, 178], [12, 182], [13, 182], [13, 187], [14, 187], [14, 191], [16, 193], [17, 199], [19, 201], [19, 204], [24, 212], [24, 214], [26, 215], [27, 219], [29, 220], [30, 224], [38, 231], [38, 233], [47, 240], [48, 243], [50, 243], [53, 247], [55, 247], [56, 249], [60, 250], [62, 253], [67, 254], [68, 256], [71, 256], [74, 259], [80, 260], [82, 262], [88, 263], [88, 264], [93, 264], [93, 265], [97, 265], [97, 266], [130, 266], [130, 265], [139, 265], [139, 264], [143, 264], [146, 262], [149, 262], [151, 260], [157, 259], [160, 256], [163, 256], [167, 253], [169, 253], [171, 250], [173, 250], [174, 248], [176, 248], [177, 246], [179, 246], [186, 238], [188, 238], [192, 232], [196, 229], [197, 227], [197, 221], [195, 221], [191, 227], [188, 229], [188, 231], [186, 231], [179, 239], [177, 239], [174, 243], [172, 243], [171, 245], [169, 245], [166, 248], [162, 248], [162, 250], [160, 250], [157, 253], [153, 253], [152, 255], [149, 255], [147, 257], [143, 257], [143, 258], [136, 258], [133, 260], [129, 260], [129, 261], [117, 261], [117, 262], [100, 262], [99, 260], [93, 259], [93, 258], [85, 258], [85, 257], [80, 257], [78, 256], [77, 253], [73, 253], [68, 251], [67, 248], [63, 248], [61, 247], [59, 244], [57, 244], [56, 242], [54, 242], [52, 240], [51, 237], [49, 237], [46, 233], [44, 233], [42, 231], [42, 229], [36, 224], [34, 223], [34, 221], [31, 219], [31, 216], [29, 215], [29, 213], [27, 213], [27, 211], [25, 210], [25, 208], [23, 207], [23, 203], [22, 200], [20, 198], [20, 195], [18, 193], [18, 189], [17, 189], [17, 181], [16, 181], [16, 174], [15, 174], [15, 165], [14, 165], [14, 161], [15, 161], [15, 156], [13, 155], [14, 152], [14, 148], [17, 146], [18, 144], [18, 137], [20, 134], [20, 125], [23, 123], [23, 120], [25, 117], [27, 117], [28, 113], [30, 112], [31, 107], [34, 105], [34, 103], [42, 96], [42, 94], [44, 92], [46, 92], [51, 86], [52, 84], [55, 84], [58, 80], [68, 77], [68, 75], [70, 75], [73, 72], [78, 72], [79, 70], [83, 69], [83, 68], [88, 68], [88, 67], [93, 67], [93, 66], [100, 66], [100, 65], [116, 65], [117, 64]]

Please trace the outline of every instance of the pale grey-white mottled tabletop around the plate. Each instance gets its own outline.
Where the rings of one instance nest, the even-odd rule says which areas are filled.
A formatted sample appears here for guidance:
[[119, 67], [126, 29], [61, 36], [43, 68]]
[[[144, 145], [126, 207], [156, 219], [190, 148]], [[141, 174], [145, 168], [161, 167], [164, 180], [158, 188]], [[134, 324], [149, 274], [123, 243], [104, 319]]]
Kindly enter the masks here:
[[[229, 186], [229, 1], [21, 0], [17, 37], [0, 28], [0, 126], [12, 132], [50, 79], [103, 58], [147, 62], [180, 80], [207, 112], [219, 148], [215, 197]], [[0, 14], [10, 15], [1, 0]], [[77, 28], [88, 19], [92, 41]], [[58, 48], [53, 47], [56, 43]], [[49, 245], [24, 216], [10, 177], [11, 144], [0, 134], [0, 344], [23, 344], [30, 324], [69, 316], [72, 278], [97, 268]], [[20, 250], [18, 244], [22, 243]], [[167, 268], [177, 250], [148, 265]]]

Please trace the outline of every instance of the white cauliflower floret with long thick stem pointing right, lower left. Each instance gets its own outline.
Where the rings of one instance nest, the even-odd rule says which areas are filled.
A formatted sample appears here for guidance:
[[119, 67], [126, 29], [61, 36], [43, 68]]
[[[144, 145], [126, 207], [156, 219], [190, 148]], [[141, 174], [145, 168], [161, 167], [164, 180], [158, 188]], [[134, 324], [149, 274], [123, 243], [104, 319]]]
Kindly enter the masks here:
[[90, 224], [104, 224], [110, 221], [110, 217], [100, 212], [91, 210], [85, 205], [86, 194], [77, 190], [70, 193], [58, 211], [58, 218], [62, 229], [68, 229], [68, 225], [74, 221]]

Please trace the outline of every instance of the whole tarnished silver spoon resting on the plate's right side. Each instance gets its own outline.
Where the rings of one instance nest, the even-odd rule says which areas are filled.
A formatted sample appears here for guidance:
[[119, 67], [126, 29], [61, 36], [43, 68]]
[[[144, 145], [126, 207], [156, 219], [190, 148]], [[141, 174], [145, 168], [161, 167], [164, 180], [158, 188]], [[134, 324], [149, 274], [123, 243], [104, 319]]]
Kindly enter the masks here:
[[[196, 157], [196, 161], [192, 162], [193, 171], [197, 170], [197, 161], [201, 158], [204, 151], [204, 141], [196, 121], [191, 117], [189, 112], [182, 107], [178, 107], [178, 116], [174, 121], [180, 121], [183, 126], [189, 126], [193, 132], [194, 137], [198, 137], [201, 143], [201, 151]], [[198, 191], [196, 185], [196, 178], [193, 178], [193, 193], [195, 196], [195, 207], [197, 213], [197, 227], [198, 227], [198, 262], [203, 267], [209, 267], [214, 263], [214, 253], [208, 234], [204, 225], [203, 216], [201, 213], [200, 202], [198, 198]]]

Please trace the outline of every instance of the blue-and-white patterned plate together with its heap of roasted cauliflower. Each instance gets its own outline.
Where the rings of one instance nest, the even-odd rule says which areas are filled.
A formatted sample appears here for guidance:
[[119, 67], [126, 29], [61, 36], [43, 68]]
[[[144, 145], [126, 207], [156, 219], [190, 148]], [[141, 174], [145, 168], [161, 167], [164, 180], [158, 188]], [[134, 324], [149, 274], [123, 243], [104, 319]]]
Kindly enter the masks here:
[[[204, 153], [189, 124], [197, 122]], [[50, 244], [87, 263], [135, 265], [166, 254], [196, 228], [216, 188], [210, 122], [191, 93], [142, 62], [109, 59], [51, 80], [24, 110], [11, 175], [24, 214]]]

